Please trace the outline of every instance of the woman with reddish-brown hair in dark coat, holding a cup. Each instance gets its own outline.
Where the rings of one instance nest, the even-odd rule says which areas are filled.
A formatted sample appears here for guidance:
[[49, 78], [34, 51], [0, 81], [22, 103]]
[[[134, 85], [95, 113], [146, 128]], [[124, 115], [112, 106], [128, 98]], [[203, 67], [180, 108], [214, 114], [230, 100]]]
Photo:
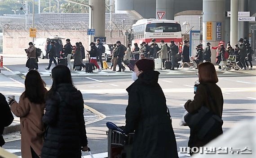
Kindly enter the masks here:
[[[218, 77], [214, 65], [210, 62], [199, 64], [198, 73], [200, 84], [196, 88], [194, 100], [188, 100], [185, 103], [186, 111], [194, 113], [204, 106], [221, 118], [223, 111], [223, 95], [221, 88], [216, 85]], [[212, 101], [209, 101], [209, 96], [212, 98]], [[190, 138], [188, 142], [190, 149], [192, 147], [202, 147], [221, 135], [223, 133], [221, 125], [214, 128], [211, 132], [213, 133], [212, 135], [208, 134], [204, 139], [199, 139], [198, 131], [196, 129], [190, 129]]]

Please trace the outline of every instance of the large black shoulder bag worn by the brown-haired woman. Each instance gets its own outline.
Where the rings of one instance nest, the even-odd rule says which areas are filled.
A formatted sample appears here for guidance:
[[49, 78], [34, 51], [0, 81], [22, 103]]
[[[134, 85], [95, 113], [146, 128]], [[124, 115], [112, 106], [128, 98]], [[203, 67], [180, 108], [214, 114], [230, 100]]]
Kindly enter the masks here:
[[[206, 89], [209, 104], [214, 103], [216, 105], [207, 86]], [[186, 114], [184, 120], [190, 129], [197, 133], [198, 138], [201, 140], [206, 136], [211, 137], [211, 135], [214, 135], [214, 129], [220, 128], [223, 124], [221, 117], [214, 114], [205, 106], [202, 106], [196, 112]]]

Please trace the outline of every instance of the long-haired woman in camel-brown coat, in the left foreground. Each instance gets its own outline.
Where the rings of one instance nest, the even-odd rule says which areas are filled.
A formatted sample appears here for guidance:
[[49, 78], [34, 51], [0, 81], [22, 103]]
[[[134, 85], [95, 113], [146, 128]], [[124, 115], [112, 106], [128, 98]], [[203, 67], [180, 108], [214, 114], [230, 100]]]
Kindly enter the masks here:
[[19, 102], [9, 98], [11, 111], [21, 121], [22, 158], [40, 158], [44, 141], [42, 117], [46, 92], [40, 74], [31, 70], [26, 75], [25, 92], [20, 96]]

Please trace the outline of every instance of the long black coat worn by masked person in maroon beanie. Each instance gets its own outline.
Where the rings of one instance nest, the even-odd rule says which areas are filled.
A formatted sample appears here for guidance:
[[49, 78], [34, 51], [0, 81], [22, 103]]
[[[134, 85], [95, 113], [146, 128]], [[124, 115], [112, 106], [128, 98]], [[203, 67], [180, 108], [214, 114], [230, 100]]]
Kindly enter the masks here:
[[125, 132], [135, 131], [132, 158], [178, 158], [172, 121], [158, 76], [159, 72], [146, 71], [127, 88]]

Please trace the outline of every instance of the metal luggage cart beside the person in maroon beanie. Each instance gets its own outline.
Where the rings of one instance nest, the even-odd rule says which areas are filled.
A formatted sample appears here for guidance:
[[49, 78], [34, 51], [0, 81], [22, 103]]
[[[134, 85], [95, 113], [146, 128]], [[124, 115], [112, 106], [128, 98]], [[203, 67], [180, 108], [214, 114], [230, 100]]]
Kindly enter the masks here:
[[132, 158], [132, 141], [134, 133], [125, 135], [119, 131], [109, 129], [108, 138], [108, 158]]

